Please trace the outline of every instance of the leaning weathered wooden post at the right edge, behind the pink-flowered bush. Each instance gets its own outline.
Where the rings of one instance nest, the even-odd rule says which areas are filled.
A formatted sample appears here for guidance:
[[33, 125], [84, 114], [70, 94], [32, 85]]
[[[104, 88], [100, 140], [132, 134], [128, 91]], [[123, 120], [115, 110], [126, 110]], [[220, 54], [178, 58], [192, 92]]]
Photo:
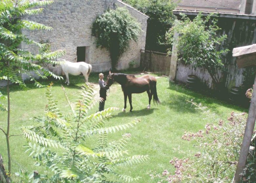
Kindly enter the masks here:
[[234, 183], [239, 183], [242, 177], [243, 169], [247, 160], [250, 142], [252, 138], [253, 128], [256, 119], [256, 77], [254, 79], [253, 93], [251, 98], [251, 104], [249, 108], [248, 118], [245, 126], [245, 134], [242, 142], [242, 148], [237, 164], [237, 169], [234, 177]]

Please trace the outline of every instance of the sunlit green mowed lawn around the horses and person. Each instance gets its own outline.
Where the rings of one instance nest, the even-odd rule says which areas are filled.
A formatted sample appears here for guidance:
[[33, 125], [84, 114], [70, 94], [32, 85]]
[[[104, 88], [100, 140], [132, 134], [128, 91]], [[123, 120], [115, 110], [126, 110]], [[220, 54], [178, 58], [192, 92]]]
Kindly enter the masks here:
[[[155, 75], [157, 76], [157, 75]], [[105, 75], [106, 80], [106, 75]], [[69, 99], [74, 101], [76, 95], [81, 91], [80, 87], [84, 82], [83, 76], [70, 76], [70, 86], [65, 86], [64, 81], [54, 81], [52, 93], [58, 100], [59, 109], [63, 112], [70, 112], [70, 108], [65, 100], [61, 84], [66, 89]], [[89, 82], [97, 85], [97, 74], [91, 74]], [[44, 84], [50, 81], [43, 81]], [[46, 105], [45, 88], [36, 88], [32, 84], [28, 84], [29, 89], [22, 91], [18, 86], [11, 86], [11, 135], [21, 134], [21, 126], [32, 125], [30, 118], [34, 116], [42, 116]], [[0, 91], [6, 94], [6, 89], [1, 88]], [[169, 84], [168, 78], [157, 78], [157, 92], [161, 101], [161, 105], [151, 105], [151, 109], [146, 109], [148, 105], [147, 93], [133, 94], [133, 112], [129, 112], [130, 105], [127, 99], [127, 111], [122, 112], [124, 100], [121, 86], [117, 83], [111, 86], [108, 93], [105, 108], [117, 107], [118, 111], [113, 113], [113, 118], [108, 123], [109, 126], [128, 123], [134, 119], [141, 122], [134, 128], [127, 129], [122, 132], [110, 134], [111, 140], [118, 139], [123, 133], [131, 133], [132, 140], [127, 145], [129, 155], [149, 155], [150, 160], [145, 163], [133, 165], [132, 167], [119, 168], [117, 171], [126, 175], [140, 176], [139, 183], [157, 182], [151, 180], [152, 172], [161, 173], [167, 169], [174, 171], [174, 167], [169, 161], [174, 158], [183, 158], [186, 154], [193, 154], [200, 151], [195, 149], [193, 141], [183, 141], [181, 136], [184, 131], [197, 132], [204, 128], [206, 123], [212, 123], [211, 118], [201, 111], [194, 109], [186, 100], [193, 99], [197, 103], [202, 103], [217, 118], [226, 119], [231, 111], [247, 112], [247, 109], [240, 108], [219, 101], [214, 98], [187, 90], [184, 86]], [[98, 95], [98, 91], [96, 91]], [[6, 103], [6, 101], [5, 101]], [[91, 112], [96, 112], [96, 105]], [[6, 129], [7, 113], [0, 112], [0, 126]], [[18, 172], [20, 168], [24, 171], [43, 169], [33, 166], [34, 161], [29, 154], [24, 153], [23, 145], [26, 141], [23, 136], [11, 137], [11, 159], [12, 159], [12, 179], [17, 182], [17, 178], [13, 173]], [[4, 158], [7, 167], [7, 150], [4, 134], [0, 132], [0, 153]], [[42, 172], [43, 173], [43, 172]], [[15, 181], [16, 180], [16, 181]]]

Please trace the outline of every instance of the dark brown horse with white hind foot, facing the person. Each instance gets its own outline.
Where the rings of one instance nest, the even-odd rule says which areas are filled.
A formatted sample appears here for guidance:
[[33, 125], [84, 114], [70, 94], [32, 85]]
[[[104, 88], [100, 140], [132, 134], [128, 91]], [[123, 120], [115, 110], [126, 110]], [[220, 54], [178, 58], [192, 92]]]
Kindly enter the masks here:
[[123, 73], [111, 73], [107, 77], [107, 86], [111, 86], [114, 82], [117, 82], [121, 85], [123, 95], [124, 95], [124, 108], [123, 111], [126, 109], [126, 101], [127, 96], [130, 103], [130, 112], [133, 109], [132, 106], [132, 93], [148, 93], [148, 106], [147, 108], [150, 109], [150, 102], [153, 95], [153, 101], [158, 104], [160, 100], [157, 96], [157, 80], [154, 76], [145, 75], [142, 77], [135, 77], [135, 75], [127, 75]]

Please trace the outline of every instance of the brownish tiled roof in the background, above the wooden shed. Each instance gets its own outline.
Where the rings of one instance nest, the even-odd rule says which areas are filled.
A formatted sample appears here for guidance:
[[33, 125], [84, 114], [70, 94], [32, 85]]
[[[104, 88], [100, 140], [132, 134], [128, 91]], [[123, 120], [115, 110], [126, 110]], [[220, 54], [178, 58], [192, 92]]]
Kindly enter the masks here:
[[219, 8], [219, 9], [240, 9], [241, 0], [174, 0], [178, 6]]

